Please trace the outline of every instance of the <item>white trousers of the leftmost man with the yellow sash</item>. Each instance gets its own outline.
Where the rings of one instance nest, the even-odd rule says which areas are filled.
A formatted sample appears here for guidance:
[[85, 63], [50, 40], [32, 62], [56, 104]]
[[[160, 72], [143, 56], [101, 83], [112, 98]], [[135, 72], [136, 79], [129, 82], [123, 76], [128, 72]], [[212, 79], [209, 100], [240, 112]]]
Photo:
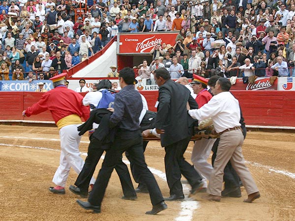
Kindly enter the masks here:
[[[68, 125], [59, 130], [61, 153], [59, 167], [54, 174], [52, 182], [61, 187], [65, 186], [71, 167], [79, 175], [84, 166], [84, 161], [80, 157], [79, 152], [79, 143], [81, 140], [81, 136], [79, 136], [79, 131], [77, 130], [79, 126], [80, 124]], [[90, 184], [94, 183], [95, 179], [92, 177]]]

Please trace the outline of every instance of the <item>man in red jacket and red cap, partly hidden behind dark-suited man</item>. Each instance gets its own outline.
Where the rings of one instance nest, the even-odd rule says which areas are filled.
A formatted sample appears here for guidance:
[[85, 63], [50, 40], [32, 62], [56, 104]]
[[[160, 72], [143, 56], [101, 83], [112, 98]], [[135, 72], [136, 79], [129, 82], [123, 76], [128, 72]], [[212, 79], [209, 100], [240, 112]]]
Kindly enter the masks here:
[[[199, 108], [207, 104], [212, 98], [210, 92], [207, 91], [207, 83], [207, 79], [199, 75], [193, 75], [193, 81], [191, 85], [193, 87], [194, 93], [197, 94], [195, 100], [198, 103]], [[207, 162], [207, 159], [211, 153], [211, 149], [215, 140], [216, 139], [212, 138], [201, 138], [196, 140], [192, 151], [191, 161], [197, 172], [203, 176], [202, 181], [205, 183], [205, 185], [203, 186], [201, 192], [204, 193], [207, 191], [207, 181], [209, 180], [211, 171], [213, 169], [212, 165]]]

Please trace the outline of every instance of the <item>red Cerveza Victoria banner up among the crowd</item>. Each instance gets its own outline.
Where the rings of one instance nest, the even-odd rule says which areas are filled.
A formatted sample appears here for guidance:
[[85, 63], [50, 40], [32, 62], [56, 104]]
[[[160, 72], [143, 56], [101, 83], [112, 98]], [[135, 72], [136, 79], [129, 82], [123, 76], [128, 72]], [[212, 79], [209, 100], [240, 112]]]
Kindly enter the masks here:
[[158, 43], [175, 45], [175, 39], [179, 32], [144, 32], [144, 33], [119, 33], [118, 54], [148, 54]]

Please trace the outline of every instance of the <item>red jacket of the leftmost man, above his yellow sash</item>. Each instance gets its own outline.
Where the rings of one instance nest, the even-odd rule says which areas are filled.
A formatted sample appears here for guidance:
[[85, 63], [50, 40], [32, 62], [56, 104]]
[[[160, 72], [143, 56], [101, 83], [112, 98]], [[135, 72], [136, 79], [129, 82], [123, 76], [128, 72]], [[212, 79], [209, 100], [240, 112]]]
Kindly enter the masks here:
[[77, 114], [87, 120], [89, 107], [83, 106], [83, 96], [65, 86], [58, 86], [44, 93], [36, 104], [26, 110], [26, 115], [36, 115], [49, 110], [57, 123], [61, 118]]

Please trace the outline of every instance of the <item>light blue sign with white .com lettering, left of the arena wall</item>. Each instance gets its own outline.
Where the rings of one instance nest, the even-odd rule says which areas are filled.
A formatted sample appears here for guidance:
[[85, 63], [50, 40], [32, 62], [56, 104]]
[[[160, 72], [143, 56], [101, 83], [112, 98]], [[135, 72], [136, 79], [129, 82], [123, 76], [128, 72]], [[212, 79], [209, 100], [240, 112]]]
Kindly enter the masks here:
[[44, 80], [33, 80], [31, 83], [29, 81], [0, 81], [0, 92], [1, 91], [36, 91], [39, 88], [37, 83], [43, 82], [44, 89], [53, 89], [52, 81]]

